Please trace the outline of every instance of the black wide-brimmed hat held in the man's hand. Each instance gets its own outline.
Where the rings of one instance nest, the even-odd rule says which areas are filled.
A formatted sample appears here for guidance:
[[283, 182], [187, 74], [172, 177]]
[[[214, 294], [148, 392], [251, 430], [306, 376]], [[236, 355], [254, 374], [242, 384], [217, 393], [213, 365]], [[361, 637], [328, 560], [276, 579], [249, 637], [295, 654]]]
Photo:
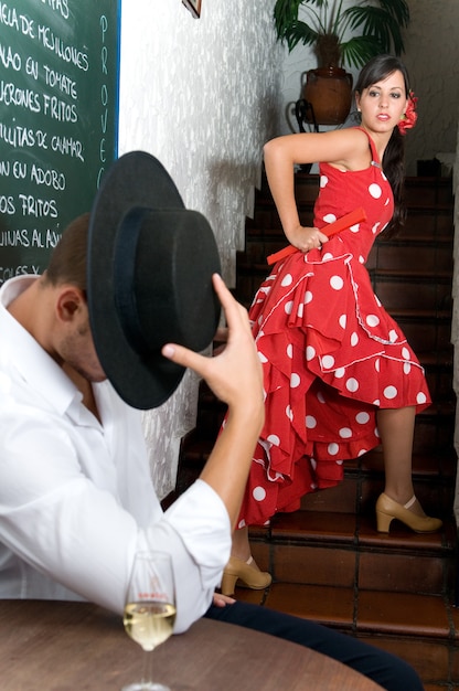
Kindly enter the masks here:
[[100, 364], [126, 403], [148, 410], [175, 391], [185, 370], [161, 355], [164, 343], [212, 342], [220, 272], [211, 226], [163, 166], [145, 151], [115, 161], [89, 219], [87, 301]]

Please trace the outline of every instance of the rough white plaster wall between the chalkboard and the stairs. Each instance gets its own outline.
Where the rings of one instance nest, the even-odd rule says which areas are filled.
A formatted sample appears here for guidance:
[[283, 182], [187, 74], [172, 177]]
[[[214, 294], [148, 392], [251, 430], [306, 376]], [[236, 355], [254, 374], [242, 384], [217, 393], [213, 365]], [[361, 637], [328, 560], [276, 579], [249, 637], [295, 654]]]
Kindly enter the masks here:
[[[223, 276], [235, 280], [263, 143], [278, 130], [274, 0], [124, 0], [119, 152], [142, 149], [172, 176], [185, 205], [210, 221]], [[175, 483], [180, 438], [194, 426], [196, 381], [145, 418], [161, 496]]]

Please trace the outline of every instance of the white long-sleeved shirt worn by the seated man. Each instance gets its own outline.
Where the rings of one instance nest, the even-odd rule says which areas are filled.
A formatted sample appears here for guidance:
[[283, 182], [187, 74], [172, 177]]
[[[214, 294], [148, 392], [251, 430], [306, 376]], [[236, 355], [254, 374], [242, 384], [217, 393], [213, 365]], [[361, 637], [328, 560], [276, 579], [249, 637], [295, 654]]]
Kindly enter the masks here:
[[227, 511], [198, 480], [166, 512], [140, 412], [94, 384], [102, 424], [6, 307], [0, 289], [0, 598], [88, 599], [121, 613], [136, 550], [171, 553], [175, 632], [207, 609], [231, 550]]

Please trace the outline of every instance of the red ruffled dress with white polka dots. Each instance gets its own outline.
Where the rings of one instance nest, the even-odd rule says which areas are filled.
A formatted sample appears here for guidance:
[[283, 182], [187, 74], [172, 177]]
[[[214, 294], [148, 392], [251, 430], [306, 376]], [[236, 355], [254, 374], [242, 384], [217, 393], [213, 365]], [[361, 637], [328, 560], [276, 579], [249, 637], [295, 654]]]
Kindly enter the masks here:
[[371, 166], [320, 166], [314, 225], [363, 206], [366, 221], [322, 249], [278, 262], [249, 310], [264, 369], [266, 421], [239, 515], [263, 525], [343, 478], [343, 460], [380, 444], [376, 410], [427, 407], [424, 370], [373, 291], [365, 261], [394, 202], [376, 149]]

